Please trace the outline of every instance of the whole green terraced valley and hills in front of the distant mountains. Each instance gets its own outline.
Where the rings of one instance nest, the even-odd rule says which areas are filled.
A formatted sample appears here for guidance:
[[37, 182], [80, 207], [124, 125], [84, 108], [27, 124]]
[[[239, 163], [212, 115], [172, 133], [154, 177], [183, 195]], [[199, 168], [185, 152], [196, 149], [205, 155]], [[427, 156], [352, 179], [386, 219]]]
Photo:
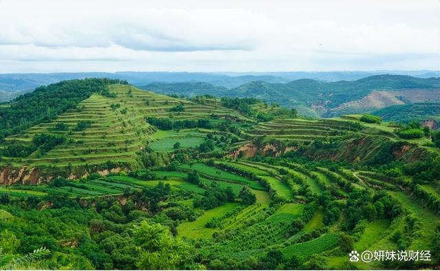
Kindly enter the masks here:
[[[44, 248], [49, 269], [439, 267], [440, 132], [421, 119], [311, 119], [258, 95], [100, 79], [41, 91], [54, 102], [0, 106], [0, 253]], [[351, 250], [431, 260], [353, 262]]]

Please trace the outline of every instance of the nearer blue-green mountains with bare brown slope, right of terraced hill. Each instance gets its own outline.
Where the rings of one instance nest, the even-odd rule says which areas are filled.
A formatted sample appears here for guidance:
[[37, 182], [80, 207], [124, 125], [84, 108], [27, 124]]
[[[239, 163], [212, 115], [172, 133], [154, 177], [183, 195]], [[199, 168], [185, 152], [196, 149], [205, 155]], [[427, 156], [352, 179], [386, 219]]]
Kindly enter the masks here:
[[142, 89], [157, 93], [192, 97], [214, 95], [256, 97], [295, 107], [303, 115], [332, 117], [362, 113], [386, 106], [415, 102], [440, 102], [440, 78], [415, 78], [408, 75], [373, 75], [355, 81], [321, 82], [300, 79], [282, 83], [253, 81], [225, 89], [206, 82], [154, 83]]

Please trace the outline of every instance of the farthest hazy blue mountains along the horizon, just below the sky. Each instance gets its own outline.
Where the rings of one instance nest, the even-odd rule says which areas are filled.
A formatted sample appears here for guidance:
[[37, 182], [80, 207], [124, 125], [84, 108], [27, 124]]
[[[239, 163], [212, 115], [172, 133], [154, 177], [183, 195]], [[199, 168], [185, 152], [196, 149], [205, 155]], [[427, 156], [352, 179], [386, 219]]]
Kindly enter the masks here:
[[81, 78], [113, 78], [127, 80], [136, 86], [153, 82], [207, 82], [214, 86], [235, 88], [252, 81], [287, 83], [298, 79], [313, 79], [324, 82], [358, 80], [378, 74], [410, 75], [417, 78], [440, 77], [440, 71], [286, 71], [265, 73], [188, 73], [188, 72], [141, 72], [121, 71], [116, 73], [7, 73], [0, 74], [0, 91], [27, 91], [37, 86], [52, 84], [62, 80]]

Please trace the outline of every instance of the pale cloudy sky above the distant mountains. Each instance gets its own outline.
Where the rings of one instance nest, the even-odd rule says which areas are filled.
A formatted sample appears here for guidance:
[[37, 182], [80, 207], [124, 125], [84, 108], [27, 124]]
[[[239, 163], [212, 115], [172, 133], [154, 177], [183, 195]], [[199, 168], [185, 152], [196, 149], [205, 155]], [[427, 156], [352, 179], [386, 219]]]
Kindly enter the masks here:
[[440, 70], [440, 0], [0, 0], [0, 73]]

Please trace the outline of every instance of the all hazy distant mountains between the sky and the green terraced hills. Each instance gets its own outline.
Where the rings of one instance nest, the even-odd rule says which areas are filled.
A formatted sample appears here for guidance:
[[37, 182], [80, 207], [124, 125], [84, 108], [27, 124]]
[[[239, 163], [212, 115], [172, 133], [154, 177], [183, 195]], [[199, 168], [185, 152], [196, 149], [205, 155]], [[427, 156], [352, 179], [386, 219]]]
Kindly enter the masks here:
[[[273, 73], [23, 73], [0, 75], [0, 102], [36, 86], [74, 78], [127, 80], [156, 93], [256, 97], [295, 107], [310, 117], [363, 113], [388, 106], [440, 102], [440, 71], [273, 72]], [[394, 75], [407, 73], [410, 75]], [[300, 78], [300, 79], [298, 79]]]

